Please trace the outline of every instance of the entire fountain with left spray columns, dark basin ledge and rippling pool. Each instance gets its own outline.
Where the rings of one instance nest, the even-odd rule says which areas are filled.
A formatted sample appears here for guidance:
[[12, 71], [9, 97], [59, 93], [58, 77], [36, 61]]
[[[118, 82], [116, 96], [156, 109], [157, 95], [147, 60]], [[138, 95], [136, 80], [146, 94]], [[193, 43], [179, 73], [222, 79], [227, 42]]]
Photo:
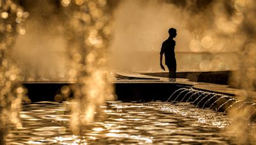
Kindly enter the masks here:
[[[0, 96], [1, 144], [232, 144], [236, 139], [225, 134], [232, 122], [227, 113], [244, 111], [243, 120], [256, 120], [253, 101], [212, 92], [207, 86], [198, 89], [188, 80], [134, 76], [113, 81], [104, 53], [111, 34], [108, 1], [61, 0], [59, 4], [70, 20], [63, 24], [68, 33], [68, 82], [23, 83], [29, 95], [33, 89], [35, 95], [47, 95], [37, 92], [42, 86], [54, 88], [51, 97], [56, 102], [30, 104], [24, 96], [26, 88], [19, 83], [24, 81], [20, 69], [9, 60], [9, 50], [1, 49], [0, 80], [8, 87], [1, 89]], [[14, 22], [15, 31], [25, 34], [22, 22], [28, 12], [13, 1], [0, 1], [0, 6], [13, 9], [13, 14], [0, 11], [4, 31], [9, 32], [7, 23]], [[9, 19], [13, 17], [15, 21]], [[1, 47], [11, 48], [15, 31], [4, 33], [10, 39], [4, 38]], [[118, 101], [106, 101], [115, 96], [111, 81]], [[31, 86], [35, 87], [31, 90]]]

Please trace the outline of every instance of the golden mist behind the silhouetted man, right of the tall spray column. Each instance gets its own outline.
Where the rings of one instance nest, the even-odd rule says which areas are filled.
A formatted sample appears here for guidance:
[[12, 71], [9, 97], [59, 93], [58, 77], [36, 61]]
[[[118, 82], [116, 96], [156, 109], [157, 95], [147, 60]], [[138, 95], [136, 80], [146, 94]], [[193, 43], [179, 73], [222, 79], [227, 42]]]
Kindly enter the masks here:
[[238, 1], [120, 1], [113, 14], [113, 67], [161, 71], [161, 44], [174, 27], [177, 71], [236, 70], [248, 41], [237, 7]]

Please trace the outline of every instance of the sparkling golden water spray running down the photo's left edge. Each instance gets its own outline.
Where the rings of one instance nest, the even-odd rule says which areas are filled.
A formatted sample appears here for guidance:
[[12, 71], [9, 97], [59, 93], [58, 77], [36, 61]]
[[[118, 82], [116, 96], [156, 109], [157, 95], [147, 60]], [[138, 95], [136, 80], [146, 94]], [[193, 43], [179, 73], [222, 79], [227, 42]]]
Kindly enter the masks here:
[[26, 32], [24, 22], [28, 15], [19, 3], [0, 0], [0, 144], [4, 144], [8, 123], [22, 127], [19, 111], [22, 99], [26, 100], [26, 89], [20, 83], [24, 80], [20, 76], [21, 69], [11, 56], [15, 36]]

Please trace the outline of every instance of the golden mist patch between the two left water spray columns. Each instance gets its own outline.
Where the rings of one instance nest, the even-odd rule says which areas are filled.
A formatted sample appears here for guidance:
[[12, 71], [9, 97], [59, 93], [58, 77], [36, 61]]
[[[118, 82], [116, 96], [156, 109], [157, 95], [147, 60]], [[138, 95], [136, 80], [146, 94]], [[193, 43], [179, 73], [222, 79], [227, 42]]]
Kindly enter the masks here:
[[[17, 36], [13, 55], [26, 81], [67, 81], [67, 39], [61, 13], [50, 1], [28, 2], [26, 31]], [[29, 5], [30, 4], [30, 5]], [[47, 16], [47, 17], [45, 17]]]

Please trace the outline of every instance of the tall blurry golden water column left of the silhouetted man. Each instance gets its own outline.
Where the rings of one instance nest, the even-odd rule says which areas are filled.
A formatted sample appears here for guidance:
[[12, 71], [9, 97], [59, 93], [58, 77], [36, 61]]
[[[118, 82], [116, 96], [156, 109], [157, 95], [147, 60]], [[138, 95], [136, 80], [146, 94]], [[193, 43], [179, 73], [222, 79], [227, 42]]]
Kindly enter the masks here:
[[74, 134], [83, 134], [83, 126], [93, 121], [100, 104], [113, 99], [111, 76], [108, 69], [108, 41], [111, 38], [111, 20], [107, 1], [61, 1], [68, 22], [68, 81], [74, 99], [70, 105], [70, 128]]

